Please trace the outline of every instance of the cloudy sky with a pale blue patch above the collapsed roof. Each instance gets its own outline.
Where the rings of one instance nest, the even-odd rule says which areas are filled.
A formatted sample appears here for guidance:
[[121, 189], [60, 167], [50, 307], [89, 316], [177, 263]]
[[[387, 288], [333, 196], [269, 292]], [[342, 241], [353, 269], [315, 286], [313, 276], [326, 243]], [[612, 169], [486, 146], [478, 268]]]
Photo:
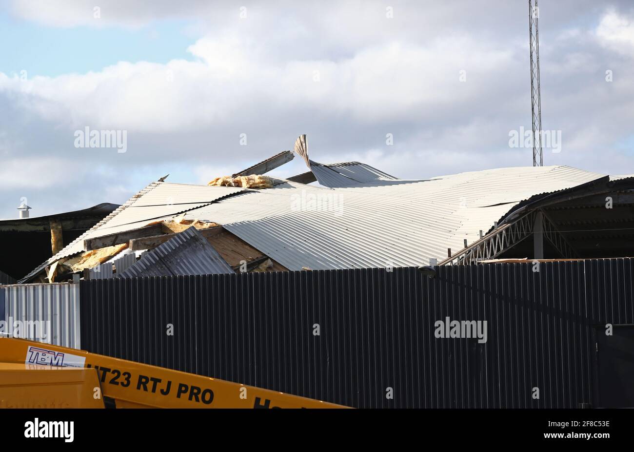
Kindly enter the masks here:
[[[301, 133], [315, 161], [401, 178], [532, 164], [509, 147], [531, 129], [525, 0], [304, 3], [0, 0], [0, 218], [206, 183]], [[539, 20], [544, 163], [634, 173], [634, 4], [542, 0]], [[86, 127], [126, 152], [77, 147]]]

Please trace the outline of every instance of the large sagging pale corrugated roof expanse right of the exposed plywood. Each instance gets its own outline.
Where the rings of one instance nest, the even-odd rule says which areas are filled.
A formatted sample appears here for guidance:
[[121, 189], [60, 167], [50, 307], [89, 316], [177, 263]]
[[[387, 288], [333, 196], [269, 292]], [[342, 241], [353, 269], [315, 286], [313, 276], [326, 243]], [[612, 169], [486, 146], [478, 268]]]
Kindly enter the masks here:
[[442, 260], [447, 248], [479, 239], [479, 230], [524, 199], [595, 180], [567, 166], [500, 168], [328, 189], [287, 182], [186, 214], [225, 229], [290, 270], [404, 267]]

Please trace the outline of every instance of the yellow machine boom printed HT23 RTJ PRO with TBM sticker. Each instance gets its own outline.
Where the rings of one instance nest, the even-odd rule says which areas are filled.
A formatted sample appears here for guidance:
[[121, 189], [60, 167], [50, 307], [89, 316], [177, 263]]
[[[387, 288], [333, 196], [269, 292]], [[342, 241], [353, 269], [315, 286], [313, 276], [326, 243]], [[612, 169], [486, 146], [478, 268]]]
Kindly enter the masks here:
[[346, 408], [84, 350], [0, 338], [0, 408], [104, 408], [112, 402], [116, 408]]

